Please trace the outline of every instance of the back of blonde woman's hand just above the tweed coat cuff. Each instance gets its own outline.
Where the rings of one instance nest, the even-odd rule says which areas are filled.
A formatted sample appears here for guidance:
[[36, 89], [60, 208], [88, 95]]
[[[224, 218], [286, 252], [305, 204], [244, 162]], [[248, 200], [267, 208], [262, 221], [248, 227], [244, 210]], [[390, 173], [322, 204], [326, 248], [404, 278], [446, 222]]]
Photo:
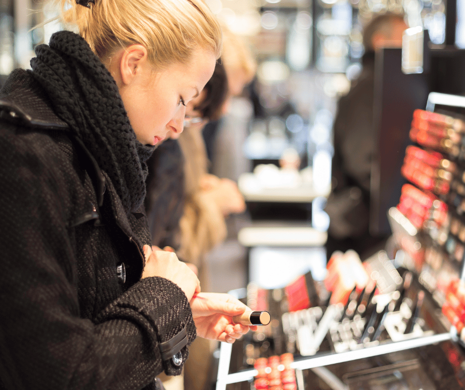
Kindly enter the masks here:
[[160, 276], [176, 283], [192, 299], [194, 293], [200, 293], [200, 282], [195, 273], [174, 252], [161, 250], [157, 246], [144, 245], [145, 267], [142, 278]]

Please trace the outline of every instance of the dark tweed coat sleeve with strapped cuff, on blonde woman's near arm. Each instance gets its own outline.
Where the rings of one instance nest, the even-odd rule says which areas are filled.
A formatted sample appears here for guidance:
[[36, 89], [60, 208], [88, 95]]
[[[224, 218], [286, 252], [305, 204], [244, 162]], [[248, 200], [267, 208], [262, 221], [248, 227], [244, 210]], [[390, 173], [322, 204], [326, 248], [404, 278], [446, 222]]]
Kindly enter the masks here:
[[159, 347], [184, 327], [188, 342], [195, 338], [186, 295], [164, 278], [146, 278], [96, 321], [81, 318], [64, 218], [70, 175], [53, 170], [66, 161], [47, 145], [20, 143], [0, 128], [0, 388], [141, 389], [162, 371], [180, 374]]

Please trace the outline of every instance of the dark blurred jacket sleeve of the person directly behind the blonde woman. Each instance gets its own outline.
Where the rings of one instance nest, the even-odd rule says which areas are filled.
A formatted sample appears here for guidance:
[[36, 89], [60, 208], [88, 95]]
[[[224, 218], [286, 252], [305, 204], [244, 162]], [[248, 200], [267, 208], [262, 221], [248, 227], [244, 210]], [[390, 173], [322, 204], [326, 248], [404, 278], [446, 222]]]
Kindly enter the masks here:
[[160, 248], [180, 244], [179, 221], [184, 212], [185, 158], [177, 140], [168, 139], [147, 160], [144, 204], [152, 244]]

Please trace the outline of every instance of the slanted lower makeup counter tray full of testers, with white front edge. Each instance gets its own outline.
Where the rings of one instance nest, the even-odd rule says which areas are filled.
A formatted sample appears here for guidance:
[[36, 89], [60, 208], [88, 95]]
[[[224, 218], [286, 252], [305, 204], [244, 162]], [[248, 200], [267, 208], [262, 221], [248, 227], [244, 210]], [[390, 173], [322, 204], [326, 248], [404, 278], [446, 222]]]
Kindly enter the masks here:
[[[326, 286], [331, 284], [327, 279], [339, 280], [345, 270], [330, 264], [332, 272], [324, 281], [313, 281], [310, 275], [297, 279], [298, 283], [313, 281], [312, 286], [306, 285], [305, 294], [314, 294], [311, 302], [306, 301], [308, 307], [293, 311], [289, 311], [289, 286], [296, 281], [273, 290], [249, 284], [241, 299], [253, 310], [266, 309], [271, 321], [233, 345], [222, 343], [229, 351], [225, 375], [229, 373], [231, 382], [224, 385], [226, 389], [374, 390], [419, 386], [439, 390], [444, 389], [443, 383], [448, 389], [462, 389], [465, 350], [451, 341], [444, 321], [455, 321], [459, 332], [463, 329], [465, 284], [454, 280], [447, 286], [455, 300], [449, 299], [441, 312], [416, 274], [391, 268], [385, 256], [385, 252], [379, 252], [362, 263], [368, 270], [368, 281], [362, 289], [352, 287], [345, 302], [330, 303], [332, 294]], [[437, 356], [427, 363], [431, 354]], [[314, 363], [320, 360], [324, 364]], [[380, 381], [391, 387], [379, 387]]]

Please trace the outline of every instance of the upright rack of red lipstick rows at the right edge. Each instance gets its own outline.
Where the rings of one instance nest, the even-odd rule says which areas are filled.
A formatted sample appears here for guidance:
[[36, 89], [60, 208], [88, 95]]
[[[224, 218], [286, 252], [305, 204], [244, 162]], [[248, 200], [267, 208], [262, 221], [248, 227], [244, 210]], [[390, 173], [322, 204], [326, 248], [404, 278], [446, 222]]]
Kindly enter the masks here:
[[[397, 205], [407, 230], [393, 229], [439, 304], [447, 300], [445, 286], [463, 273], [465, 256], [465, 122], [452, 108], [444, 113], [414, 112], [410, 138], [416, 145], [406, 148], [401, 168], [410, 183]], [[394, 224], [402, 225], [400, 218]], [[445, 310], [450, 312], [447, 305]]]

